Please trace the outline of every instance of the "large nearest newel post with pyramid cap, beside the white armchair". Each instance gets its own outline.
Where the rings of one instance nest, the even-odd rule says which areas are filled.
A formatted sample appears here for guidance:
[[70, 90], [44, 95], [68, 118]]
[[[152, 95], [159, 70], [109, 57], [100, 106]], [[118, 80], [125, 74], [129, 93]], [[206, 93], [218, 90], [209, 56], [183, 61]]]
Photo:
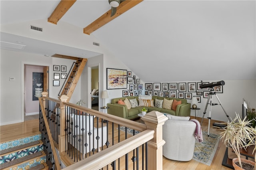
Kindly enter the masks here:
[[163, 140], [162, 126], [168, 119], [164, 114], [158, 111], [151, 111], [141, 118], [147, 125], [147, 129], [155, 131], [154, 138], [148, 141], [148, 169], [163, 169]]

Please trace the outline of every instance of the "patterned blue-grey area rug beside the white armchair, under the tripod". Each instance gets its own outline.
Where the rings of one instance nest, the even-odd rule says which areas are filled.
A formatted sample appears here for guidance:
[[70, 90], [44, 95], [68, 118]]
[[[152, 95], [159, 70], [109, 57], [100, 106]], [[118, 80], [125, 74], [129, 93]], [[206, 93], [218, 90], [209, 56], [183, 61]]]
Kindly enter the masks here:
[[220, 135], [210, 133], [208, 137], [207, 132], [202, 133], [204, 141], [202, 143], [196, 141], [193, 160], [210, 166], [220, 142]]

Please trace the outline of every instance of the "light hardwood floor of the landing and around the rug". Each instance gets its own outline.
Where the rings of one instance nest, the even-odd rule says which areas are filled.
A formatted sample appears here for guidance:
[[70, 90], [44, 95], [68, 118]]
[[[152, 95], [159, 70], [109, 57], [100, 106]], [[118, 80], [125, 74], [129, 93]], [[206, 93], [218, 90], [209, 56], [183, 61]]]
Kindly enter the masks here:
[[[194, 117], [191, 117], [194, 119]], [[198, 119], [200, 121], [200, 118]], [[216, 122], [211, 120], [211, 122]], [[212, 125], [212, 123], [211, 123]], [[202, 123], [202, 130], [208, 131], [208, 119]], [[214, 130], [210, 127], [210, 132], [218, 134], [219, 130]], [[23, 123], [15, 123], [12, 125], [0, 126], [0, 142], [7, 142], [14, 140], [16, 138], [22, 138], [25, 136], [31, 136], [38, 134], [39, 132], [39, 120], [31, 120]], [[231, 170], [228, 167], [222, 166], [222, 159], [226, 146], [220, 141], [218, 149], [212, 160], [212, 164], [207, 166], [195, 160], [190, 160], [188, 162], [169, 160], [163, 156], [163, 169], [164, 170]]]

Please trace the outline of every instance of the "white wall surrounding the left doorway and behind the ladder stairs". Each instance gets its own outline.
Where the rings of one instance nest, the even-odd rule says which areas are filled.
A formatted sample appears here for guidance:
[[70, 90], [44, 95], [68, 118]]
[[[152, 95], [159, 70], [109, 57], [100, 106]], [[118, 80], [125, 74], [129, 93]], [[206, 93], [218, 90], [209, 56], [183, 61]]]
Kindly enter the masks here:
[[[70, 69], [73, 60], [45, 57], [44, 55], [24, 53], [18, 51], [0, 51], [0, 81], [1, 81], [1, 103], [0, 103], [0, 125], [19, 123], [24, 121], [24, 65], [49, 66], [49, 96], [58, 98], [61, 86], [53, 87], [53, 65], [66, 65]], [[59, 71], [59, 73], [61, 73]], [[14, 77], [15, 81], [9, 81], [9, 77]], [[60, 79], [60, 84], [64, 79]], [[74, 91], [73, 97], [80, 99], [80, 83], [78, 90]], [[79, 97], [77, 97], [79, 96]], [[73, 102], [72, 99], [70, 102]], [[13, 105], [16, 105], [14, 107]]]

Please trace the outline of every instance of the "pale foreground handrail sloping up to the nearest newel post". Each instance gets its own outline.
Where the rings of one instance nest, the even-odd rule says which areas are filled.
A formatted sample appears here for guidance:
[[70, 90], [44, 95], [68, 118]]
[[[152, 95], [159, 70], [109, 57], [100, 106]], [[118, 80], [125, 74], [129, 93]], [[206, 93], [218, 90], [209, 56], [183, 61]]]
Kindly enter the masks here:
[[117, 160], [128, 152], [148, 142], [152, 138], [154, 138], [154, 130], [145, 130], [111, 146], [110, 148], [106, 148], [97, 154], [81, 160], [76, 164], [72, 164], [63, 170], [97, 170], [103, 168], [114, 160]]

